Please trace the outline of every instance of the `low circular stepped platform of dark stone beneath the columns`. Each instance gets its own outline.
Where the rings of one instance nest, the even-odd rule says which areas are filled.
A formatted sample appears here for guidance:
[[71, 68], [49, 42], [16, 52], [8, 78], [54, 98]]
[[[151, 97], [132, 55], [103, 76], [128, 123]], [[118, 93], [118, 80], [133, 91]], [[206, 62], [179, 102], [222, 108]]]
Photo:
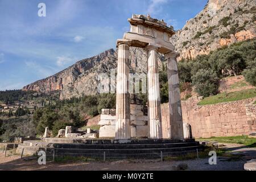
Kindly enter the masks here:
[[90, 158], [159, 158], [196, 152], [203, 147], [195, 139], [65, 139], [44, 138], [41, 141], [24, 141], [16, 152], [24, 155], [36, 154], [44, 150], [52, 156], [86, 156]]

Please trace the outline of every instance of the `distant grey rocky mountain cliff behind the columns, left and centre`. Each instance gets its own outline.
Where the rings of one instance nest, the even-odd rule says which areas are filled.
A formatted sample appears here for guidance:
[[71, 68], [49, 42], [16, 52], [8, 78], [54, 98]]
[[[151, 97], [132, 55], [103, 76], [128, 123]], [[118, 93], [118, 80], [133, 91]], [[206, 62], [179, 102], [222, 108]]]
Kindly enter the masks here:
[[[158, 55], [159, 69], [162, 69], [161, 60]], [[60, 99], [79, 97], [82, 95], [96, 94], [99, 75], [110, 74], [110, 70], [117, 69], [117, 50], [109, 49], [100, 55], [78, 61], [63, 71], [24, 86], [23, 90], [35, 90], [37, 92], [52, 92], [60, 90]], [[141, 48], [130, 48], [130, 73], [147, 72], [147, 55]]]

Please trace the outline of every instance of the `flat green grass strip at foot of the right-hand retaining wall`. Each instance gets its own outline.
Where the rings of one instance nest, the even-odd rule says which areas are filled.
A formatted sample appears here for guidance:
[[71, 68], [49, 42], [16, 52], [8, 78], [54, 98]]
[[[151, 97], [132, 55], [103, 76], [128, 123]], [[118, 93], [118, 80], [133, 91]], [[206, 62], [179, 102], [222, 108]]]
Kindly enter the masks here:
[[256, 138], [249, 138], [247, 135], [236, 136], [236, 137], [199, 138], [197, 140], [217, 141], [219, 143], [237, 143], [237, 144], [243, 144], [247, 147], [256, 147]]

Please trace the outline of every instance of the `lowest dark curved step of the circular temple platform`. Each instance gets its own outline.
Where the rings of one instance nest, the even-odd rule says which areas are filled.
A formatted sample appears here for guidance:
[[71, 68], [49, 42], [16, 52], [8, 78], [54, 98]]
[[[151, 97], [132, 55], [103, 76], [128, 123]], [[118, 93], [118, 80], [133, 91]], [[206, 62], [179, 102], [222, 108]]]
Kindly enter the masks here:
[[[75, 153], [75, 154], [142, 154], [154, 152], [183, 152], [183, 151], [196, 151], [200, 146], [190, 147], [174, 147], [174, 148], [139, 148], [139, 149], [86, 149], [86, 148], [54, 148], [55, 154]], [[47, 149], [48, 151], [48, 149]]]

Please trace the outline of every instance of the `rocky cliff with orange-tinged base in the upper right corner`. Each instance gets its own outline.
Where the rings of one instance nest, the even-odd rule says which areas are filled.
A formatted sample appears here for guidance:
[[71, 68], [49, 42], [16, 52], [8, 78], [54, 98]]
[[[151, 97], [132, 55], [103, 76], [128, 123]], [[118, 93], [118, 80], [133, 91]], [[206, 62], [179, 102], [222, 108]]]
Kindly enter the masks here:
[[195, 18], [172, 36], [179, 60], [255, 38], [255, 15], [255, 0], [209, 0]]

